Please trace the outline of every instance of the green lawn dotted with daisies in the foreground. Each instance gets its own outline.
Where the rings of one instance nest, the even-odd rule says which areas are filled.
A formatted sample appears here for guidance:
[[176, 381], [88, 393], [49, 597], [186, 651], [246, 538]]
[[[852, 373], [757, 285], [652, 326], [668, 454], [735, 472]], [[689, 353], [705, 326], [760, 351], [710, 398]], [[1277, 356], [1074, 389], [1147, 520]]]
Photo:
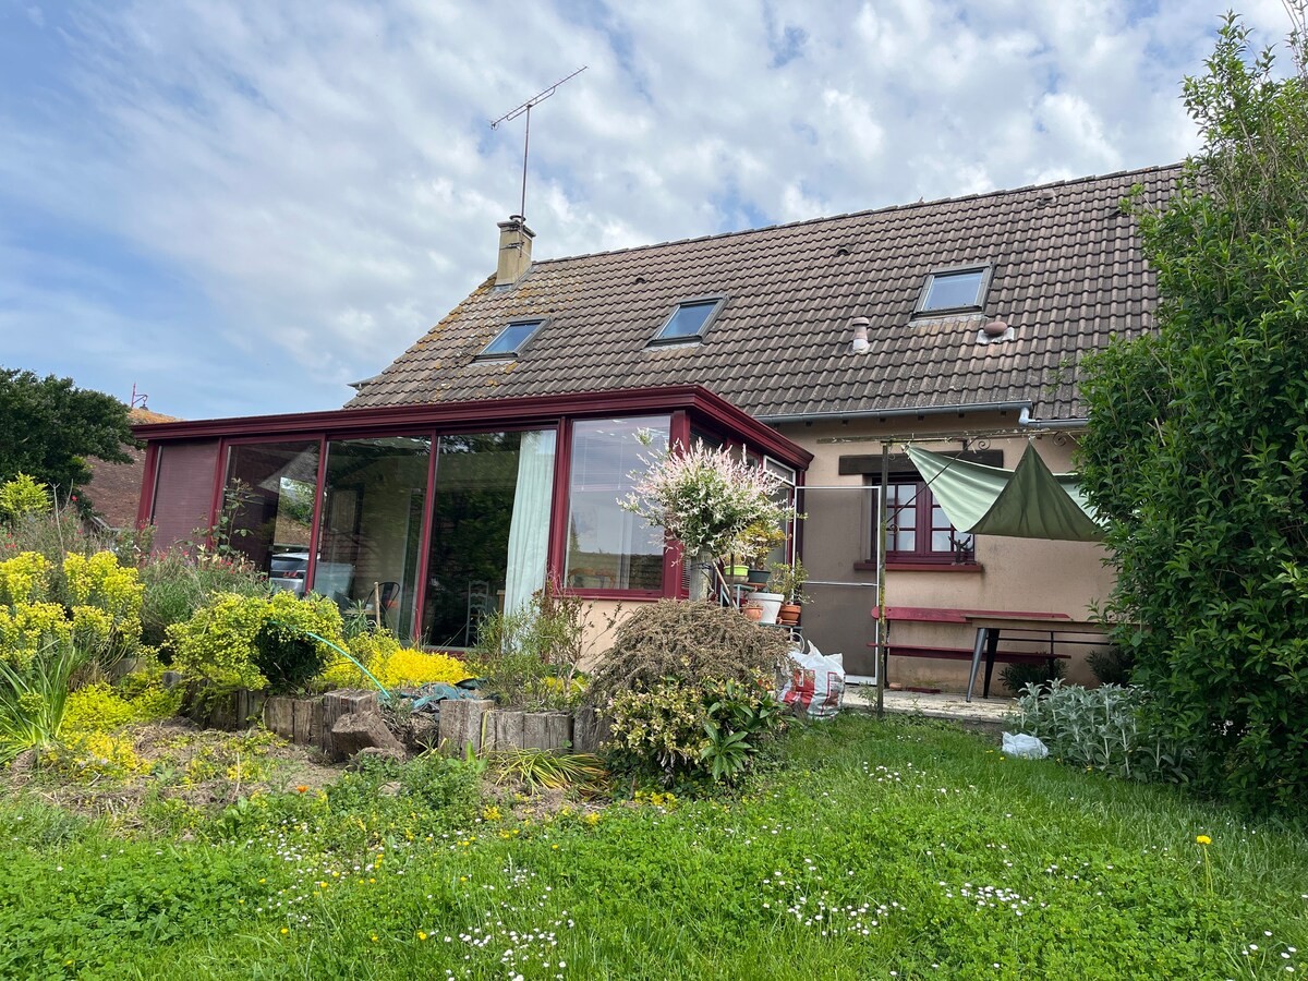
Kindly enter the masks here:
[[0, 976], [1308, 971], [1301, 828], [1006, 759], [943, 723], [846, 715], [797, 734], [743, 798], [532, 820], [470, 803], [459, 766], [221, 821], [161, 808], [131, 835], [33, 794], [0, 803]]

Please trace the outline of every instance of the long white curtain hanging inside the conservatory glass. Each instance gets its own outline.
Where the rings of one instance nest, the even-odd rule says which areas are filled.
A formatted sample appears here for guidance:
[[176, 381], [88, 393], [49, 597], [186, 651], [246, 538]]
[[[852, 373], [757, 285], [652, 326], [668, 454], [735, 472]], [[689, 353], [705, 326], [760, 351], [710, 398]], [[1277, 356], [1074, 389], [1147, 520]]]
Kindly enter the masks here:
[[549, 505], [555, 488], [555, 430], [523, 433], [518, 447], [518, 485], [509, 526], [509, 568], [504, 612], [511, 613], [545, 585]]

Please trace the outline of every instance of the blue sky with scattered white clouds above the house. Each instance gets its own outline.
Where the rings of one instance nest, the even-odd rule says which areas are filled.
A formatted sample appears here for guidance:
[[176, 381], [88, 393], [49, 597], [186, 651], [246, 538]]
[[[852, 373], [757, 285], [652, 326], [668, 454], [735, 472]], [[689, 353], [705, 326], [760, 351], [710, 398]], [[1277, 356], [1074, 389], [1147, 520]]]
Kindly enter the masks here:
[[[1169, 164], [1222, 5], [0, 0], [0, 365], [339, 407], [494, 269]], [[1241, 13], [1264, 43], [1279, 0]]]

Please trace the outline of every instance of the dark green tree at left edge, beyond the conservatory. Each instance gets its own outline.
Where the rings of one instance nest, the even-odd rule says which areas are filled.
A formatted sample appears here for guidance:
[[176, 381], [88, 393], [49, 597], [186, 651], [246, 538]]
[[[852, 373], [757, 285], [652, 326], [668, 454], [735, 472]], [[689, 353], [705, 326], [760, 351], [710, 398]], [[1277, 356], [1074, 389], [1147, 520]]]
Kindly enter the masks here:
[[86, 456], [129, 463], [127, 405], [72, 378], [0, 368], [0, 483], [26, 473], [61, 496], [90, 479]]

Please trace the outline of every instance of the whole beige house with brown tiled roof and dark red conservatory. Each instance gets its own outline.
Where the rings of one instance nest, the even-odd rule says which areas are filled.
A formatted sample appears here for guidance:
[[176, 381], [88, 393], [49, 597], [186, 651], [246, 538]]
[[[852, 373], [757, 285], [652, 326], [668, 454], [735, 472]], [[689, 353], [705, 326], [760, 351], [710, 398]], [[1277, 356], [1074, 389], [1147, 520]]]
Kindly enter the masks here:
[[[319, 591], [386, 594], [398, 628], [459, 647], [547, 570], [602, 608], [684, 595], [676, 555], [616, 498], [642, 438], [738, 445], [806, 515], [806, 636], [869, 676], [888, 446], [888, 603], [1082, 619], [1110, 587], [1099, 545], [959, 534], [903, 447], [1012, 467], [1033, 439], [1069, 470], [1080, 357], [1151, 328], [1154, 276], [1122, 200], [1139, 186], [1159, 205], [1177, 175], [545, 260], [513, 217], [494, 276], [343, 409], [141, 426], [139, 517], [182, 538], [226, 508], [264, 568], [298, 551]], [[914, 629], [943, 642], [944, 627]], [[965, 678], [930, 659], [895, 671]], [[1071, 675], [1088, 678], [1082, 658]]]

